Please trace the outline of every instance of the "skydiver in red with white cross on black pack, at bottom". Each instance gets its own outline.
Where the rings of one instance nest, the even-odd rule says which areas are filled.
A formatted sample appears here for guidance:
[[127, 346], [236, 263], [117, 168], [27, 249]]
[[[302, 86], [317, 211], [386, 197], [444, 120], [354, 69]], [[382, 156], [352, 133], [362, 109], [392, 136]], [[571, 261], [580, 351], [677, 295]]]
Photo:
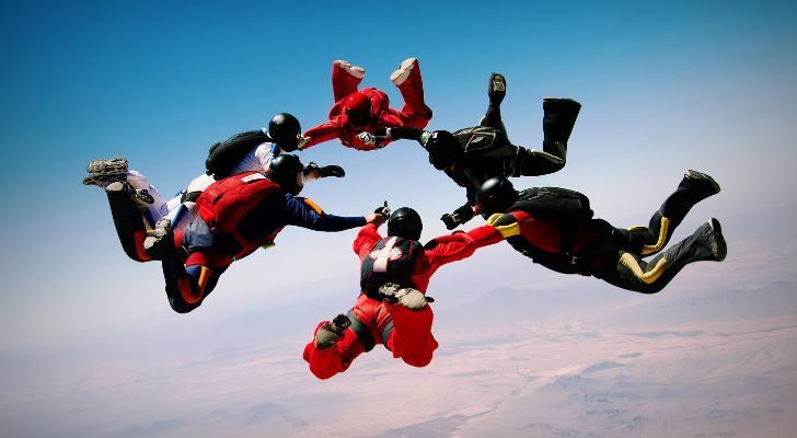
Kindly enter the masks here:
[[[384, 209], [378, 211], [386, 216]], [[380, 223], [362, 227], [354, 242], [360, 257], [360, 293], [354, 308], [347, 315], [321, 322], [313, 341], [304, 347], [303, 358], [319, 379], [345, 371], [357, 356], [377, 344], [413, 367], [427, 366], [438, 346], [427, 303], [431, 299], [425, 296], [431, 275], [447, 263], [500, 241], [487, 241], [496, 231], [483, 226], [421, 245], [420, 216], [407, 207], [390, 215], [386, 238], [378, 232]]]

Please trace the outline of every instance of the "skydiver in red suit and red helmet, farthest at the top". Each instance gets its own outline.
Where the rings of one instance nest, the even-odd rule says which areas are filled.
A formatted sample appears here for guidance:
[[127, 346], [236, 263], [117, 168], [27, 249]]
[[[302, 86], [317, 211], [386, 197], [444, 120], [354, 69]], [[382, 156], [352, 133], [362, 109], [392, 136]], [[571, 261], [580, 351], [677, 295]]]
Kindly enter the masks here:
[[332, 90], [335, 104], [330, 120], [304, 132], [302, 149], [337, 138], [347, 148], [374, 150], [392, 141], [386, 128], [406, 126], [423, 129], [431, 119], [431, 110], [424, 102], [424, 81], [416, 58], [405, 59], [390, 76], [404, 97], [401, 111], [390, 107], [388, 94], [374, 88], [357, 90], [366, 70], [348, 61], [332, 64]]

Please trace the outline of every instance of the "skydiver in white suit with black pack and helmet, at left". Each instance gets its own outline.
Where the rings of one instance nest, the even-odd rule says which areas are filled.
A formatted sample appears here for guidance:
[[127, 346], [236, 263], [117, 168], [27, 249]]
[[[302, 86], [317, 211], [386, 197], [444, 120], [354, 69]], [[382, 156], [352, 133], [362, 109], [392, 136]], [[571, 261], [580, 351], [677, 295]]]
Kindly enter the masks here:
[[[206, 173], [194, 178], [186, 189], [171, 199], [165, 199], [141, 173], [129, 170], [124, 158], [90, 162], [86, 169], [90, 175], [83, 184], [106, 189], [122, 245], [131, 258], [142, 262], [150, 258], [140, 252], [140, 244], [135, 239], [143, 238], [127, 232], [127, 229], [132, 227], [139, 230], [139, 234], [145, 233], [147, 228], [153, 229], [161, 218], [171, 220], [174, 229], [182, 228], [194, 219], [199, 194], [215, 181], [242, 172], [265, 171], [275, 157], [297, 150], [302, 141], [299, 120], [290, 114], [280, 113], [272, 118], [267, 129], [236, 134], [211, 146], [205, 162]], [[310, 163], [304, 170], [305, 181], [344, 175], [343, 168], [338, 165], [320, 168]], [[136, 208], [130, 208], [130, 204]], [[130, 220], [145, 220], [146, 226], [125, 223]], [[134, 235], [138, 237], [134, 239]], [[147, 246], [153, 243], [148, 240]]]

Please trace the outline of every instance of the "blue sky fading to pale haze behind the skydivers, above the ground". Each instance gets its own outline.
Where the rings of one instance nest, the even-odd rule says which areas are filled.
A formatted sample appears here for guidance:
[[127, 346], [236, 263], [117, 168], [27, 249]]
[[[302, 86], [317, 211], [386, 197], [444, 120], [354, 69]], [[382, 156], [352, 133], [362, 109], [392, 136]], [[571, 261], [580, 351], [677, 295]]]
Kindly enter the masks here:
[[[328, 316], [346, 309], [357, 281], [354, 232], [287, 230], [275, 250], [236, 263], [197, 312], [172, 314], [160, 267], [124, 256], [104, 196], [80, 184], [88, 161], [124, 155], [175, 193], [201, 173], [215, 141], [278, 112], [314, 126], [332, 104], [335, 59], [365, 67], [363, 84], [400, 106], [388, 77], [417, 57], [432, 129], [476, 124], [487, 78], [500, 71], [510, 138], [532, 148], [542, 139], [542, 97], [576, 99], [584, 107], [567, 166], [518, 186], [579, 189], [599, 216], [622, 226], [646, 222], [685, 169], [706, 171], [724, 192], [695, 208], [677, 238], [717, 216], [727, 221], [731, 253], [696, 280], [729, 270], [734, 284], [762, 281], [762, 273], [794, 279], [794, 227], [782, 219], [796, 211], [796, 21], [797, 7], [785, 1], [406, 1], [360, 11], [328, 2], [8, 3], [0, 18], [0, 357], [79, 358], [99, 336], [141, 327], [185, 341], [196, 327], [314, 296], [339, 297]], [[414, 142], [371, 153], [328, 142], [302, 159], [347, 171], [305, 188], [327, 211], [366, 212], [383, 199], [414, 206], [426, 239], [446, 232], [437, 218], [463, 199]], [[751, 254], [756, 263], [743, 258]], [[441, 270], [431, 287], [584, 280], [496, 246]], [[665, 292], [694, 287], [675, 281]], [[297, 318], [312, 325], [319, 316]]]

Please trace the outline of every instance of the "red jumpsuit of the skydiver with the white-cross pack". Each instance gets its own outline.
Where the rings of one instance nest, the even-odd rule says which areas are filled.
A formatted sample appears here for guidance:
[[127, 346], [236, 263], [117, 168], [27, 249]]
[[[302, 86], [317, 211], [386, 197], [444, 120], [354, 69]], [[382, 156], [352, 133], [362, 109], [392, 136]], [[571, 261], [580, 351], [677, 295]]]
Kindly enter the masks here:
[[[382, 237], [374, 224], [369, 223], [360, 229], [354, 242], [354, 250], [360, 261], [380, 240]], [[412, 287], [425, 293], [429, 279], [437, 268], [470, 257], [477, 247], [501, 240], [501, 235], [492, 226], [432, 240], [424, 246], [423, 254], [419, 254], [415, 262], [409, 280]], [[431, 361], [438, 344], [431, 334], [434, 313], [428, 304], [420, 311], [413, 311], [400, 303], [378, 301], [360, 292], [351, 313], [368, 328], [376, 344], [383, 344], [393, 351], [393, 357], [401, 358], [414, 367], [425, 367]], [[320, 323], [313, 335], [325, 323], [326, 321]], [[362, 342], [353, 327], [349, 327], [331, 348], [317, 349], [315, 344], [310, 342], [304, 347], [303, 358], [310, 364], [310, 371], [315, 377], [328, 379], [348, 369], [351, 361], [365, 351]]]

